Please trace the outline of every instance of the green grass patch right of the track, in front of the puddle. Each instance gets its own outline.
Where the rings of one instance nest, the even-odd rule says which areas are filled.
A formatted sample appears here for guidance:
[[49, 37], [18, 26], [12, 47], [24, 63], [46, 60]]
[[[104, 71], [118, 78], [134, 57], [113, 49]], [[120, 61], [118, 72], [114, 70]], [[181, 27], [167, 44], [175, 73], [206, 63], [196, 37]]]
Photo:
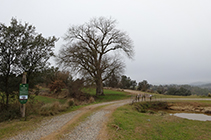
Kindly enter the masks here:
[[167, 113], [140, 113], [131, 105], [118, 108], [108, 123], [109, 139], [209, 140], [210, 121], [193, 121]]

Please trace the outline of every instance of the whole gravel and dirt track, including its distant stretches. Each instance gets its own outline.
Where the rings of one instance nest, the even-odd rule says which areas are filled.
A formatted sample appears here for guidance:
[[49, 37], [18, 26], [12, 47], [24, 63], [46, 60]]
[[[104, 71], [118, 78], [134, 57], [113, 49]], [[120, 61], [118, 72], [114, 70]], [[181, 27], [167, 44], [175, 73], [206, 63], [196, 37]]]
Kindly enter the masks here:
[[[144, 94], [140, 91], [125, 90], [131, 94]], [[155, 100], [155, 99], [154, 99]], [[159, 99], [156, 99], [159, 100]], [[167, 98], [162, 100], [211, 100], [196, 98]], [[120, 106], [129, 104], [132, 99], [112, 101], [83, 107], [79, 110], [55, 116], [50, 120], [44, 120], [34, 131], [18, 134], [9, 139], [30, 139], [30, 140], [54, 140], [54, 139], [74, 139], [74, 140], [106, 140], [106, 124], [112, 113]], [[102, 106], [100, 109], [98, 107]], [[89, 116], [82, 122], [79, 118], [87, 113]], [[70, 129], [72, 124], [78, 123], [76, 127]]]

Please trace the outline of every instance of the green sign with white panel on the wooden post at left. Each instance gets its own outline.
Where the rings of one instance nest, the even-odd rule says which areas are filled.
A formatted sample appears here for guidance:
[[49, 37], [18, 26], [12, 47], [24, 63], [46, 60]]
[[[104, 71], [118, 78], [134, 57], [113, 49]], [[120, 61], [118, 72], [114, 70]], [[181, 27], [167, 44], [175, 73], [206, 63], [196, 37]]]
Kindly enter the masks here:
[[28, 90], [29, 90], [28, 84], [20, 84], [20, 86], [19, 86], [19, 102], [21, 104], [25, 104], [27, 102]]

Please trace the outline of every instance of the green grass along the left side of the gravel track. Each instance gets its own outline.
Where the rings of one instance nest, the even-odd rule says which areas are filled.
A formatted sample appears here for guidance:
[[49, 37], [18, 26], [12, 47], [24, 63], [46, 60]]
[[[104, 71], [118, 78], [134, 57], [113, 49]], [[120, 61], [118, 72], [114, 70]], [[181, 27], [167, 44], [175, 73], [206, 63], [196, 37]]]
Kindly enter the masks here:
[[[46, 89], [43, 89], [46, 90]], [[89, 89], [89, 92], [91, 95], [95, 95], [95, 89]], [[107, 101], [113, 101], [113, 100], [121, 100], [121, 99], [126, 99], [128, 97], [130, 97], [130, 95], [128, 95], [125, 92], [119, 92], [119, 91], [112, 91], [112, 90], [104, 90], [104, 93], [106, 96], [100, 96], [100, 97], [96, 97], [96, 101], [94, 103], [100, 103], [100, 102], [107, 102]], [[36, 104], [53, 104], [55, 102], [59, 102], [61, 104], [65, 104], [65, 102], [67, 101], [67, 99], [55, 99], [55, 98], [51, 98], [51, 97], [46, 97], [46, 96], [36, 96], [34, 103]], [[27, 102], [27, 104], [30, 101]], [[90, 104], [87, 104], [90, 105]], [[79, 106], [72, 106], [69, 107], [67, 110], [65, 110], [64, 112], [59, 112], [58, 114], [55, 115], [61, 115], [64, 113], [68, 113], [74, 110], [77, 110], [81, 107], [87, 106], [87, 105], [79, 105]], [[34, 108], [37, 108], [36, 106]], [[27, 105], [26, 105], [26, 109]], [[39, 108], [37, 108], [39, 109]], [[28, 115], [28, 114], [26, 114]], [[47, 116], [47, 117], [43, 117], [41, 115], [37, 115], [37, 114], [30, 114], [29, 116], [27, 116], [26, 121], [25, 118], [21, 118], [21, 119], [14, 119], [14, 120], [9, 120], [9, 121], [5, 121], [5, 122], [1, 122], [0, 123], [0, 139], [6, 138], [6, 137], [11, 137], [14, 136], [18, 133], [21, 133], [25, 130], [33, 130], [37, 127], [37, 124], [39, 122], [41, 122], [43, 119], [50, 119], [52, 116]]]

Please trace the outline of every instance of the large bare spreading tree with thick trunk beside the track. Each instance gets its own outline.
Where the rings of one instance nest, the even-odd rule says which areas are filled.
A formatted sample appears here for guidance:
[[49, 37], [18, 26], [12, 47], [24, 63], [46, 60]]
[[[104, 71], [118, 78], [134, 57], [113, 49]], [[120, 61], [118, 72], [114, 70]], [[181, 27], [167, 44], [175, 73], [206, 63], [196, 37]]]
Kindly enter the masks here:
[[133, 56], [131, 39], [116, 29], [116, 20], [111, 18], [93, 18], [71, 26], [64, 39], [67, 44], [60, 50], [58, 63], [89, 74], [96, 84], [96, 95], [104, 95], [104, 80], [114, 72], [122, 72], [124, 63], [119, 54]]

